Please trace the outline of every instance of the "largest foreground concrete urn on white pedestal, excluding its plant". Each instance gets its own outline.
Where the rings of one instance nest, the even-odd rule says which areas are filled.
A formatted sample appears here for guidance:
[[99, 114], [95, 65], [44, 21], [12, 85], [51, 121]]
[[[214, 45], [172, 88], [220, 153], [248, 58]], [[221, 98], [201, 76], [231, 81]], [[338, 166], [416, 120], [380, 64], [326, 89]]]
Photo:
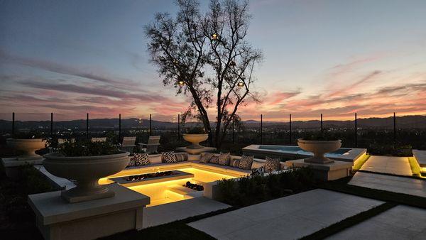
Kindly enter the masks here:
[[129, 152], [105, 155], [65, 157], [60, 153], [48, 153], [43, 165], [49, 173], [75, 180], [76, 187], [61, 192], [67, 202], [84, 202], [100, 198], [114, 197], [107, 185], [99, 185], [99, 178], [119, 173], [129, 164]]

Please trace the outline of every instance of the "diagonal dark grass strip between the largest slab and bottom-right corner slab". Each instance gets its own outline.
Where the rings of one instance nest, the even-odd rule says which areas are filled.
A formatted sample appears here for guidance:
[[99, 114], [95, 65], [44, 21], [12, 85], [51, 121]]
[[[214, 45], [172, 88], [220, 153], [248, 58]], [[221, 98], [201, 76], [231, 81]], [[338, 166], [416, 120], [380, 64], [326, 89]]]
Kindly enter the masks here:
[[307, 239], [324, 239], [327, 236], [337, 234], [339, 231], [342, 231], [342, 230], [347, 229], [349, 227], [352, 227], [356, 224], [364, 222], [367, 219], [370, 219], [371, 217], [374, 217], [378, 214], [381, 214], [382, 212], [386, 212], [388, 209], [391, 209], [392, 207], [395, 207], [396, 205], [398, 205], [398, 204], [395, 203], [395, 202], [385, 202], [385, 203], [380, 204], [376, 207], [368, 209], [364, 212], [360, 212], [359, 214], [356, 214], [352, 217], [348, 217], [346, 219], [343, 219], [342, 221], [337, 222], [335, 224], [332, 224], [329, 227], [324, 227], [323, 229], [321, 229], [319, 231], [315, 231], [314, 233], [309, 234], [307, 236], [304, 236], [301, 239], [304, 239], [304, 240], [307, 240]]

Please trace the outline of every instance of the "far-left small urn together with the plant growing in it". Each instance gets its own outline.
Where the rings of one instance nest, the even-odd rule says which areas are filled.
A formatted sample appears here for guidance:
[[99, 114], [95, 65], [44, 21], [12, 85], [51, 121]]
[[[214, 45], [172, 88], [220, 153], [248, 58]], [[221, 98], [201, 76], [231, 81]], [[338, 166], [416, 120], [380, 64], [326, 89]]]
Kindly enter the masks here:
[[8, 138], [6, 142], [7, 146], [21, 153], [17, 157], [18, 160], [40, 159], [42, 157], [35, 151], [45, 148], [45, 139], [40, 131], [15, 133], [13, 138]]

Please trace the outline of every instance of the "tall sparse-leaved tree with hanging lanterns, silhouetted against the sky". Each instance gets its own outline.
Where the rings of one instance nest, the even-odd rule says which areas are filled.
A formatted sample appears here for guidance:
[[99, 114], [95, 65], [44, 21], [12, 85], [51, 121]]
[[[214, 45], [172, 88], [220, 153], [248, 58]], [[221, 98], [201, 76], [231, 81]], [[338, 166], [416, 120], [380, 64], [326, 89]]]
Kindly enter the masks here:
[[[151, 61], [157, 65], [163, 84], [173, 84], [177, 94], [192, 97], [182, 121], [194, 116], [202, 121], [209, 141], [217, 148], [237, 111], [251, 92], [253, 67], [262, 53], [245, 38], [249, 28], [249, 4], [239, 0], [211, 0], [201, 13], [195, 0], [178, 0], [175, 18], [157, 13], [146, 26]], [[214, 133], [207, 110], [216, 110]]]

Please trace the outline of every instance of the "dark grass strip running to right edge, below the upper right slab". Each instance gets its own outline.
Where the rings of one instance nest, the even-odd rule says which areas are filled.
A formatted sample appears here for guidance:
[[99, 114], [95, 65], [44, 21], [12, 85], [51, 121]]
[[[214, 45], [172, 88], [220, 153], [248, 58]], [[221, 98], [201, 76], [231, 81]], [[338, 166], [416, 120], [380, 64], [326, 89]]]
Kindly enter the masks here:
[[351, 180], [351, 177], [334, 180], [332, 182], [324, 182], [318, 187], [325, 190], [347, 193], [350, 195], [371, 198], [383, 202], [396, 202], [398, 204], [405, 204], [412, 207], [420, 207], [426, 209], [426, 197], [419, 197], [414, 195], [408, 195], [405, 193], [389, 192], [368, 187], [349, 185], [347, 184], [349, 180]]

